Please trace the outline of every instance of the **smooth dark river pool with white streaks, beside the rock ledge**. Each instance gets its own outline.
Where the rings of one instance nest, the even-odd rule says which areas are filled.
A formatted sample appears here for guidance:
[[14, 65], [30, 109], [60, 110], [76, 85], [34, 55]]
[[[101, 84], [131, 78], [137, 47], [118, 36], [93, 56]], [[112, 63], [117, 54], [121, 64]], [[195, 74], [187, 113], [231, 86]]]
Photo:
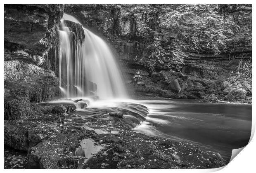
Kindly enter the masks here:
[[198, 103], [193, 100], [136, 101], [149, 108], [145, 122], [133, 130], [151, 136], [186, 140], [219, 152], [229, 160], [232, 149], [249, 142], [251, 105]]

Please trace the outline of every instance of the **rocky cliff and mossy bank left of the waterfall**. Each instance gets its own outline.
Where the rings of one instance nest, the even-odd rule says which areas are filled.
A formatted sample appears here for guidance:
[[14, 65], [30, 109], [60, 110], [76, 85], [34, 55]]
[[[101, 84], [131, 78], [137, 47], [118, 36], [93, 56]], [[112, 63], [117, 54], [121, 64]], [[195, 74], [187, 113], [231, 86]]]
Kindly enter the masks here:
[[60, 96], [57, 26], [63, 5], [5, 5], [5, 119]]

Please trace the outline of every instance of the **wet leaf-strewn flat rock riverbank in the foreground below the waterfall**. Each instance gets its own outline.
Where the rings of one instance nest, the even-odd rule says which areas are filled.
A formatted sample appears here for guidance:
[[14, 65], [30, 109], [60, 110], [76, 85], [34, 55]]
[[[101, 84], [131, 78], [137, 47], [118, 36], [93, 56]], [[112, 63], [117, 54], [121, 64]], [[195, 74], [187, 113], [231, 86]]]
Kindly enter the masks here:
[[[72, 104], [50, 104], [35, 105], [35, 114], [29, 117], [5, 121], [5, 145], [27, 151], [26, 168], [217, 168], [226, 164], [218, 153], [191, 143], [133, 132], [147, 116], [142, 105], [74, 110]], [[111, 116], [113, 112], [123, 116]]]

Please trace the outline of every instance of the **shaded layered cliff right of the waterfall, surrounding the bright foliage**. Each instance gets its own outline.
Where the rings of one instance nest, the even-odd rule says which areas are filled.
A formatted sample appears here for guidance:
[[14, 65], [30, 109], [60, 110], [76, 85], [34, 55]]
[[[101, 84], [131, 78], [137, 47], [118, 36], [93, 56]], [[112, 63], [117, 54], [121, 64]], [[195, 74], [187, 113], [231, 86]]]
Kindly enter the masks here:
[[[139, 6], [132, 5], [65, 5], [64, 12], [76, 16], [86, 28], [112, 45], [126, 67], [123, 69], [127, 69], [124, 72], [130, 78], [127, 81], [130, 88], [135, 88], [137, 92], [167, 98], [201, 99], [215, 94], [218, 99], [223, 99], [228, 94], [224, 90], [229, 86], [233, 89], [244, 88], [247, 96], [250, 96], [251, 79], [237, 84], [238, 79], [234, 73], [241, 59], [247, 61], [251, 58], [251, 5], [216, 5], [219, 12], [216, 15], [223, 16], [224, 20], [230, 21], [234, 26], [225, 31], [229, 40], [226, 51], [218, 55], [205, 51], [204, 47], [199, 52], [187, 51], [181, 71], [168, 70], [168, 61], [163, 61], [156, 63], [154, 72], [140, 61], [142, 57], [149, 56], [150, 50], [145, 47], [147, 40], [140, 35], [140, 28], [143, 26], [138, 25], [145, 24], [148, 29], [159, 27], [158, 14], [144, 10], [135, 15], [134, 11], [129, 12], [130, 6], [134, 11], [139, 10]], [[178, 5], [171, 6], [173, 9], [177, 7]], [[198, 24], [198, 21], [200, 16], [185, 14], [177, 24], [189, 28]], [[150, 37], [153, 34], [149, 34]], [[176, 86], [171, 87], [173, 81]], [[180, 88], [180, 91], [172, 88]]]

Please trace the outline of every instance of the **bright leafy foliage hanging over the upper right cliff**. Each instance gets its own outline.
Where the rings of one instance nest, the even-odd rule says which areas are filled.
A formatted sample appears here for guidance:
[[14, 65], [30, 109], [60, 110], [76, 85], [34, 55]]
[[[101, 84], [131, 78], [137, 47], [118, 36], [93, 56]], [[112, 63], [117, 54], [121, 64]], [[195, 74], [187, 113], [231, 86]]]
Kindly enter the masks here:
[[[132, 10], [128, 10], [131, 9]], [[164, 65], [180, 69], [186, 52], [220, 54], [226, 49], [228, 23], [217, 5], [125, 6], [122, 19], [135, 20], [143, 55], [139, 60], [150, 70]], [[129, 11], [129, 12], [128, 12]], [[145, 51], [144, 51], [145, 50]]]

